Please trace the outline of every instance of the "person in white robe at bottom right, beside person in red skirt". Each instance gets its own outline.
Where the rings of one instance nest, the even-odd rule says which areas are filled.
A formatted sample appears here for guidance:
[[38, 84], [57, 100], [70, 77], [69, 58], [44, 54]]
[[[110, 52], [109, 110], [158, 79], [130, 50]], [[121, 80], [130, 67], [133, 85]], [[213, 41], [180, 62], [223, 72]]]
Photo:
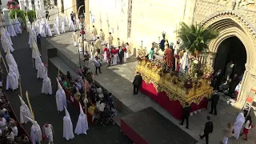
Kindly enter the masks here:
[[234, 138], [238, 139], [242, 130], [243, 124], [246, 122], [243, 111], [238, 114], [236, 121], [234, 122]]

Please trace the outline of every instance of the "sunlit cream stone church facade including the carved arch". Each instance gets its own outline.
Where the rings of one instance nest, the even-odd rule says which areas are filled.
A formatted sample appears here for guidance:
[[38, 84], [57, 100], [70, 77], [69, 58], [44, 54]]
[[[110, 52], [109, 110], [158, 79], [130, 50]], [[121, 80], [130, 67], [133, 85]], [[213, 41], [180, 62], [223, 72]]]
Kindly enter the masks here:
[[[246, 48], [246, 70], [242, 79], [239, 101], [244, 102], [256, 86], [256, 1], [255, 0], [89, 0], [86, 20], [107, 37], [130, 42], [132, 54], [141, 47], [150, 50], [152, 42], [166, 32], [169, 42], [176, 42], [180, 22], [213, 26], [220, 35], [210, 42], [209, 59], [214, 64], [218, 46], [226, 38], [237, 37]], [[88, 22], [90, 21], [90, 22]], [[256, 88], [255, 88], [256, 90]]]

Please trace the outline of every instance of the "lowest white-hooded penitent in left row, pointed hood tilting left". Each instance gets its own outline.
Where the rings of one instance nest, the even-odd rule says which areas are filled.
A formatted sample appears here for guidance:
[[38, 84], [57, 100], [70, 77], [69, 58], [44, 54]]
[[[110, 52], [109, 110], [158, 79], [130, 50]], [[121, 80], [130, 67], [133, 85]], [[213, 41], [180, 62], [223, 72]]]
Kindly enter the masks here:
[[40, 126], [38, 125], [38, 122], [34, 121], [34, 119], [26, 117], [32, 122], [31, 126], [31, 132], [30, 132], [30, 140], [32, 144], [41, 143], [42, 141], [42, 131]]

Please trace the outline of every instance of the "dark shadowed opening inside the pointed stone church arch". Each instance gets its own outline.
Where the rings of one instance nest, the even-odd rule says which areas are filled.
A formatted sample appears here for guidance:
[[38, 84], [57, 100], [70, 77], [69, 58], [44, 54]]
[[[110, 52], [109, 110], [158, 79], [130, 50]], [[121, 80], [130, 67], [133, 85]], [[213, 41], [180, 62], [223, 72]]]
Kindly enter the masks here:
[[219, 46], [216, 58], [214, 61], [214, 70], [219, 69], [225, 73], [226, 64], [230, 61], [234, 62], [233, 73], [230, 75], [230, 78], [234, 74], [240, 76], [246, 70], [246, 48], [243, 43], [237, 37], [226, 38]]

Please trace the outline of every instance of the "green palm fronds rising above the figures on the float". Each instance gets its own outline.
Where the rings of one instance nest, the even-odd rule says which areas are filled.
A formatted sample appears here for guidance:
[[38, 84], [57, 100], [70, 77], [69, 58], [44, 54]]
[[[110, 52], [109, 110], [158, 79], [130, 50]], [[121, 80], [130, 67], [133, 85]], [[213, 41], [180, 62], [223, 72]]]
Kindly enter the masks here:
[[187, 26], [182, 22], [181, 29], [178, 30], [178, 37], [182, 40], [181, 47], [194, 54], [195, 51], [205, 52], [208, 50], [208, 44], [218, 37], [218, 31], [201, 25]]

